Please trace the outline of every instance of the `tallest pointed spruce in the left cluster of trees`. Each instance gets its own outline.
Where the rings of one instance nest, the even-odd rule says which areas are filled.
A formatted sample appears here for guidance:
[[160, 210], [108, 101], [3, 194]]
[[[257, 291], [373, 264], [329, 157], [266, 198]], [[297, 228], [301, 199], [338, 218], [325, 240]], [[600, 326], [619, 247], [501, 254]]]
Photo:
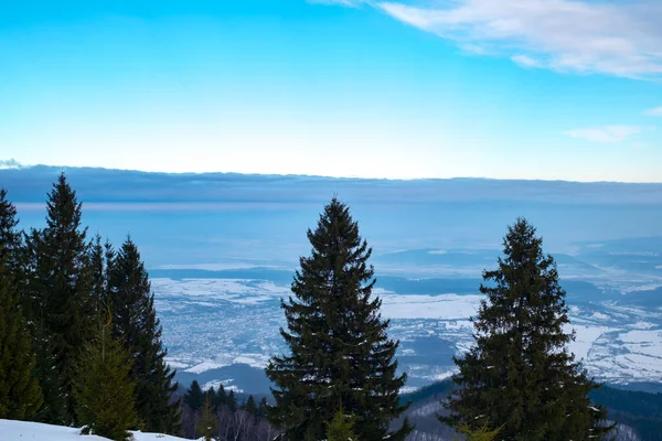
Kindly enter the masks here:
[[44, 394], [40, 419], [51, 423], [76, 422], [74, 361], [94, 326], [89, 244], [81, 218], [82, 204], [62, 173], [47, 196], [46, 227], [26, 236], [24, 298]]

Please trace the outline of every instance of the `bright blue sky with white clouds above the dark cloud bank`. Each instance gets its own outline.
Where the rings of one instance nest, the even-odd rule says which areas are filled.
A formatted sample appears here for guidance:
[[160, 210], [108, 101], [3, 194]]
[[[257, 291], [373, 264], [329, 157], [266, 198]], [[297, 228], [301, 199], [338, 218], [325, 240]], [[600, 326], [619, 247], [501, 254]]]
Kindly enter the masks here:
[[662, 182], [656, 0], [0, 3], [0, 160]]

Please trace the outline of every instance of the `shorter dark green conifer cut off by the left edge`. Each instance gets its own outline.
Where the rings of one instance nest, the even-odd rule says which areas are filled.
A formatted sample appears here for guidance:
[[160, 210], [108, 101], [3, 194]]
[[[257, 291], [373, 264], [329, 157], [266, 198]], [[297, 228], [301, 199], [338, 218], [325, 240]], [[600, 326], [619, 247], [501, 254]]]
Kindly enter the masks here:
[[34, 416], [43, 398], [33, 376], [32, 342], [4, 250], [0, 243], [0, 418], [23, 420]]

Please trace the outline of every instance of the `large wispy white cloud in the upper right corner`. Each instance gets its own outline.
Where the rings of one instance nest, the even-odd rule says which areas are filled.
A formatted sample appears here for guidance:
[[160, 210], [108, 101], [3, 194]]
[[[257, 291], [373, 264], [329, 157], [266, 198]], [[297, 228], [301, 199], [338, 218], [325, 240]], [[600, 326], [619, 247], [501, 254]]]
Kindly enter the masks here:
[[433, 0], [425, 4], [377, 2], [375, 7], [461, 47], [481, 47], [524, 67], [662, 78], [659, 0]]

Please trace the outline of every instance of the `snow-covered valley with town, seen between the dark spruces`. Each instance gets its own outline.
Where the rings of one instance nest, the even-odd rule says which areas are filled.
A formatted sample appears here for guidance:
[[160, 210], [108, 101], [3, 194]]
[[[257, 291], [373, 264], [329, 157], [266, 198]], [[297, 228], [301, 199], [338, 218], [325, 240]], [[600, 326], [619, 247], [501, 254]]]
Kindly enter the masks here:
[[[662, 277], [596, 267], [591, 273], [585, 262], [557, 260], [576, 332], [569, 349], [589, 374], [647, 390], [662, 383], [662, 300], [656, 295]], [[404, 391], [448, 378], [452, 356], [471, 345], [480, 272], [478, 267], [456, 268], [450, 276], [446, 270], [434, 269], [440, 278], [377, 276], [374, 292], [383, 300], [383, 316], [392, 320], [389, 335], [401, 340], [397, 356], [409, 376]], [[563, 279], [564, 270], [572, 277]], [[151, 275], [178, 378], [267, 392], [261, 369], [285, 348], [279, 302], [289, 294], [291, 271], [157, 269]]]

